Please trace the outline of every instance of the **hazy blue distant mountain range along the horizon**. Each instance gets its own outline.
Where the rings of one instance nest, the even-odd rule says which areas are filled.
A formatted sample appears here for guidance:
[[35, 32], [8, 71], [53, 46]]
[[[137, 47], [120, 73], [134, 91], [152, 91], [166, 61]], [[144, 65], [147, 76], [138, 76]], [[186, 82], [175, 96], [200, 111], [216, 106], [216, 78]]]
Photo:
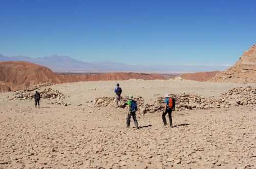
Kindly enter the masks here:
[[0, 54], [1, 61], [26, 61], [46, 66], [54, 72], [200, 72], [225, 70], [228, 66], [184, 66], [184, 65], [125, 65], [113, 62], [81, 62], [67, 56], [51, 55], [44, 58], [29, 58], [23, 56], [6, 57]]

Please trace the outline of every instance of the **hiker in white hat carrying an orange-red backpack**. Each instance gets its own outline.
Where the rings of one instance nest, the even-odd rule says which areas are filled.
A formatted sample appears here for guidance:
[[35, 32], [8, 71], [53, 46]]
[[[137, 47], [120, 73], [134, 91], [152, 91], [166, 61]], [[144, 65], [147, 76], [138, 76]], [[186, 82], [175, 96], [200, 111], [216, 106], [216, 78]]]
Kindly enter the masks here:
[[173, 110], [175, 110], [175, 99], [170, 97], [169, 94], [165, 94], [164, 95], [164, 109], [163, 109], [163, 115], [162, 115], [164, 126], [167, 125], [165, 115], [168, 113], [170, 127], [173, 128], [173, 119], [172, 119], [172, 111]]

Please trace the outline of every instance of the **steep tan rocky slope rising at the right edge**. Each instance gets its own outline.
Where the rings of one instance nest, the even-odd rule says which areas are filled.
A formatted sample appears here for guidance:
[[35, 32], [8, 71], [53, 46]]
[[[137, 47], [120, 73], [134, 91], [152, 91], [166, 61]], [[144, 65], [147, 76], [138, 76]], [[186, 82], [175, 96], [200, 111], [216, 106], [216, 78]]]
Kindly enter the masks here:
[[239, 61], [228, 70], [218, 73], [210, 81], [256, 82], [256, 45], [244, 52]]

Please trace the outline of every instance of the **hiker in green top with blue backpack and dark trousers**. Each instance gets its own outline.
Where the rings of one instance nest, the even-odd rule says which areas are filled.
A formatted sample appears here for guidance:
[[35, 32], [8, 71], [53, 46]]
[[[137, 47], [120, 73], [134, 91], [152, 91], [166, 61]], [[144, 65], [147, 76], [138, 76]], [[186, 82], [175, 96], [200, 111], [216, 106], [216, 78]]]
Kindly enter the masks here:
[[138, 121], [136, 119], [136, 110], [137, 110], [137, 103], [133, 98], [133, 95], [129, 96], [129, 100], [127, 101], [127, 105], [129, 106], [128, 116], [126, 120], [126, 127], [130, 127], [131, 117], [133, 117], [134, 125], [138, 129]]

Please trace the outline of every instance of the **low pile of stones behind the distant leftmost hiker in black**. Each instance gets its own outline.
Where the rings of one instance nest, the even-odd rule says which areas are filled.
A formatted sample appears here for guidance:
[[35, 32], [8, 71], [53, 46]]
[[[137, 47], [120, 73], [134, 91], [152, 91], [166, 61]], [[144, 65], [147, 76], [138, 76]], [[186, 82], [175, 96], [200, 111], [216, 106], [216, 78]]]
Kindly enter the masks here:
[[30, 99], [32, 100], [35, 94], [35, 90], [37, 90], [40, 93], [40, 97], [42, 99], [65, 99], [67, 96], [59, 92], [58, 90], [53, 90], [52, 88], [45, 88], [45, 89], [40, 89], [40, 88], [34, 88], [33, 90], [27, 89], [27, 90], [20, 90], [16, 91], [15, 95], [12, 99], [20, 99], [20, 100], [25, 100], [25, 99]]

